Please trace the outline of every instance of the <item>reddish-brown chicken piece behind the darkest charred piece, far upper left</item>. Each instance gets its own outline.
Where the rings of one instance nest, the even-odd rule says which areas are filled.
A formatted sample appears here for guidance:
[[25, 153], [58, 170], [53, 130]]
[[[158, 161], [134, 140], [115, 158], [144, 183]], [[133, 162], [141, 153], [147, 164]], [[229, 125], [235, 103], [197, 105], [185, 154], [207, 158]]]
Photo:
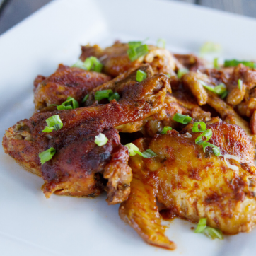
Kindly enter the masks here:
[[110, 80], [110, 76], [76, 67], [59, 65], [51, 76], [37, 76], [34, 82], [35, 111], [55, 110], [68, 96], [81, 103], [93, 88]]

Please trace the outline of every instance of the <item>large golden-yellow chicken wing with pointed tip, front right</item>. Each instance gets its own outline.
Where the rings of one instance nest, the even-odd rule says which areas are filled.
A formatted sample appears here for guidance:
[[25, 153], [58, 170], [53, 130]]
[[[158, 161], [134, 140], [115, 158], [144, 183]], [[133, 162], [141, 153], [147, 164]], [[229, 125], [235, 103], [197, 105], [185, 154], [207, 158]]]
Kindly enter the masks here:
[[[153, 139], [138, 139], [140, 151], [151, 149], [155, 158], [139, 155], [129, 160], [134, 179], [127, 201], [120, 206], [120, 217], [147, 243], [173, 249], [161, 228], [158, 202], [176, 216], [192, 222], [207, 218], [207, 225], [223, 233], [248, 232], [256, 223], [256, 176], [254, 147], [243, 129], [221, 122], [207, 123], [212, 129], [211, 144], [221, 154], [236, 156], [229, 160], [238, 170], [228, 168], [223, 156], [195, 144], [202, 132], [192, 132], [189, 124], [182, 132], [156, 134]], [[187, 132], [191, 137], [187, 136]]]

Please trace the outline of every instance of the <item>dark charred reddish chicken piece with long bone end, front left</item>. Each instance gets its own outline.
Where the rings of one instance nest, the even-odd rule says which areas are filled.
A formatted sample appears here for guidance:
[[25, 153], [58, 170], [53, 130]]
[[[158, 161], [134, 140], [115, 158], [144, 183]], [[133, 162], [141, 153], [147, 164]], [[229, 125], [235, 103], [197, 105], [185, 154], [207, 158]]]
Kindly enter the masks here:
[[[6, 131], [4, 150], [27, 170], [42, 176], [46, 197], [53, 192], [74, 196], [99, 194], [95, 173], [101, 173], [108, 179], [108, 203], [122, 202], [129, 194], [132, 173], [127, 165], [127, 148], [120, 145], [117, 131], [112, 128], [158, 112], [170, 90], [168, 81], [167, 76], [159, 75], [141, 83], [125, 83], [118, 103], [112, 100], [105, 105], [34, 114]], [[42, 132], [47, 125], [45, 120], [53, 115], [59, 115], [62, 129]], [[102, 147], [94, 143], [100, 132], [109, 139]], [[50, 147], [57, 153], [41, 166], [38, 154]]]

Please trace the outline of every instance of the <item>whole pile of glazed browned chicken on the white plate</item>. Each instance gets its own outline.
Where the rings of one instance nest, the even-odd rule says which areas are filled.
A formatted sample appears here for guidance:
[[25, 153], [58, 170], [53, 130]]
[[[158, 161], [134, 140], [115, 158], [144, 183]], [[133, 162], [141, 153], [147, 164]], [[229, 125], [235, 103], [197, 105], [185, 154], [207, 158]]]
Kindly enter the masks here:
[[[115, 42], [105, 49], [86, 45], [80, 59], [97, 57], [104, 74], [60, 64], [51, 76], [37, 76], [36, 113], [6, 131], [4, 151], [43, 178], [45, 197], [95, 197], [106, 190], [108, 204], [121, 203], [121, 219], [151, 245], [176, 247], [164, 234], [158, 203], [165, 212], [194, 223], [206, 218], [207, 226], [226, 234], [250, 231], [256, 223], [255, 69], [243, 64], [208, 69], [204, 59], [193, 54], [148, 47], [147, 54], [131, 62], [127, 43]], [[175, 72], [182, 68], [190, 72], [180, 78]], [[139, 69], [146, 73], [142, 82], [136, 78]], [[241, 90], [238, 79], [243, 81]], [[212, 88], [224, 83], [226, 100], [200, 80]], [[108, 89], [120, 95], [118, 102], [95, 100], [97, 91]], [[80, 107], [57, 111], [52, 106], [68, 96]], [[174, 121], [177, 113], [192, 117], [190, 124]], [[59, 115], [62, 129], [42, 132], [52, 115]], [[251, 119], [250, 126], [240, 115]], [[221, 156], [195, 144], [202, 134], [192, 132], [198, 121], [212, 130], [209, 142], [219, 147]], [[166, 126], [173, 130], [161, 134]], [[108, 139], [103, 146], [95, 144], [100, 133]], [[123, 136], [129, 142], [135, 138], [141, 152], [151, 149], [156, 156], [130, 157]], [[41, 165], [39, 153], [50, 147], [56, 153]], [[226, 155], [239, 161], [226, 161]]]

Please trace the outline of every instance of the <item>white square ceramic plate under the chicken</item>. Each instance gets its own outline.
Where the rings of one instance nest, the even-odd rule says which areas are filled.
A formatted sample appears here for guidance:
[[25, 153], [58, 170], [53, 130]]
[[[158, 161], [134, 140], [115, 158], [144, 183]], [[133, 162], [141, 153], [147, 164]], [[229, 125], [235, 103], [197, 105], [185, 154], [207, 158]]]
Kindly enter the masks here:
[[[196, 52], [214, 41], [226, 57], [254, 59], [255, 30], [255, 20], [172, 1], [54, 1], [0, 37], [0, 134], [33, 114], [33, 78], [76, 62], [80, 45], [163, 37], [170, 50]], [[3, 149], [0, 163], [0, 255], [255, 255], [256, 229], [210, 240], [178, 219], [166, 231], [178, 249], [154, 248], [120, 220], [118, 205], [107, 206], [105, 194], [45, 199], [42, 179]]]

